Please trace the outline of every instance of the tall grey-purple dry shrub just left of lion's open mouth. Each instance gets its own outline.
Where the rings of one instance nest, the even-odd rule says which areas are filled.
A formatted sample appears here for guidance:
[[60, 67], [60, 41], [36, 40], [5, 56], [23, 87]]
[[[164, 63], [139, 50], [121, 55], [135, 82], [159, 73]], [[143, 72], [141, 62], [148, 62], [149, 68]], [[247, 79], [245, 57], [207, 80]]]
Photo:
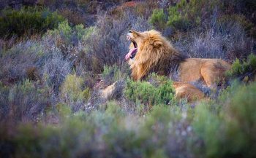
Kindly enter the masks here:
[[97, 26], [86, 40], [86, 54], [91, 55], [89, 58], [94, 72], [101, 72], [104, 66], [124, 63], [129, 45], [126, 35], [130, 28], [146, 31], [150, 25], [144, 17], [138, 17], [132, 11], [123, 12], [114, 19], [110, 15], [99, 17]]

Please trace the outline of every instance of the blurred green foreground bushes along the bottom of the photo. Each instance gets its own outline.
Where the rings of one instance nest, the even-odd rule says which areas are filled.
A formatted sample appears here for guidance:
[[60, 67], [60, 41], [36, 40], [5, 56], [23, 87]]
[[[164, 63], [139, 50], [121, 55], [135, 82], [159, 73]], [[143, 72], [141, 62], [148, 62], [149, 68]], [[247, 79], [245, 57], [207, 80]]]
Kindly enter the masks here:
[[[24, 91], [33, 89], [24, 85]], [[153, 106], [144, 116], [127, 113], [116, 101], [76, 114], [58, 104], [58, 126], [20, 125], [15, 136], [0, 138], [18, 157], [255, 157], [255, 91], [255, 83], [233, 84], [221, 102]]]

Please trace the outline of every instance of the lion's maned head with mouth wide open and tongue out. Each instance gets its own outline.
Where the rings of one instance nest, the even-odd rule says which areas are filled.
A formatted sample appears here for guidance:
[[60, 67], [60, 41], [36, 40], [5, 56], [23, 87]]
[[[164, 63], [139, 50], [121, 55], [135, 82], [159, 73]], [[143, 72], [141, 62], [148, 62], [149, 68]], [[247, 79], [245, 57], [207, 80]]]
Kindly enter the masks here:
[[129, 60], [135, 80], [151, 72], [167, 75], [172, 66], [177, 66], [185, 59], [158, 31], [129, 31], [127, 39], [131, 45], [125, 58]]

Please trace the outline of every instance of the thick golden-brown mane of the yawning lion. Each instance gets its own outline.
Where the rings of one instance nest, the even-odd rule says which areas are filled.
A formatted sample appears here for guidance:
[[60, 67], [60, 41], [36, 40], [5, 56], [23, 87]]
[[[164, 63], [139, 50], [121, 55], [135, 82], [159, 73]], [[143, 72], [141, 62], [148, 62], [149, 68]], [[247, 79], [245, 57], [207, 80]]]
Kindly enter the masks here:
[[161, 33], [147, 31], [147, 36], [143, 36], [143, 40], [138, 44], [136, 62], [130, 67], [132, 77], [135, 80], [143, 79], [151, 72], [167, 75], [171, 70], [178, 68], [179, 63], [184, 60], [186, 57], [174, 49]]

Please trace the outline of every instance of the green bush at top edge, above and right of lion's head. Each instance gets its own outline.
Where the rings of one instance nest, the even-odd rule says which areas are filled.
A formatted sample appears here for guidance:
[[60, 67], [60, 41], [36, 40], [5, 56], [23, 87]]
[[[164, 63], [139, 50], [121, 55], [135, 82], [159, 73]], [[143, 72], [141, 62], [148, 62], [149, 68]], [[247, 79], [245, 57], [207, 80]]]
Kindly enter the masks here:
[[219, 0], [181, 0], [167, 9], [167, 18], [163, 9], [154, 10], [149, 22], [160, 29], [170, 26], [176, 31], [187, 31], [209, 18], [220, 5]]

